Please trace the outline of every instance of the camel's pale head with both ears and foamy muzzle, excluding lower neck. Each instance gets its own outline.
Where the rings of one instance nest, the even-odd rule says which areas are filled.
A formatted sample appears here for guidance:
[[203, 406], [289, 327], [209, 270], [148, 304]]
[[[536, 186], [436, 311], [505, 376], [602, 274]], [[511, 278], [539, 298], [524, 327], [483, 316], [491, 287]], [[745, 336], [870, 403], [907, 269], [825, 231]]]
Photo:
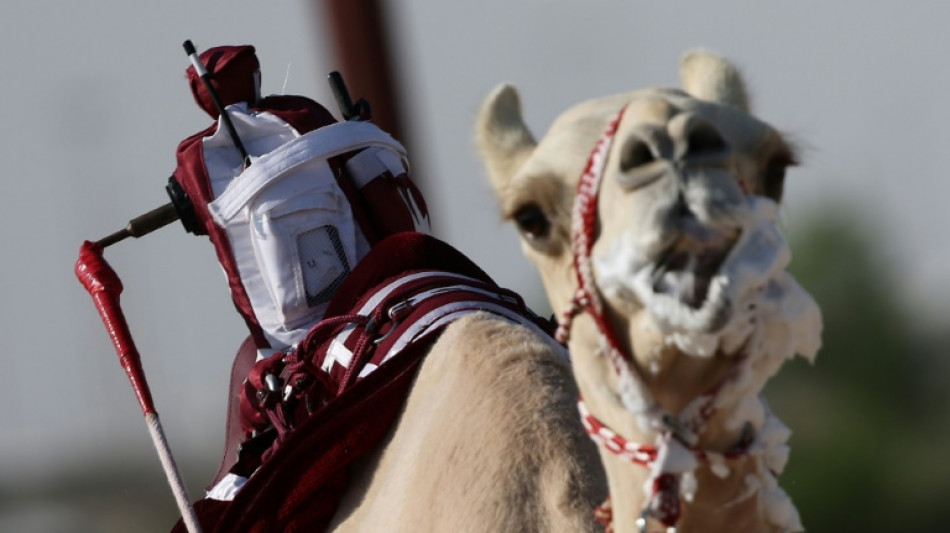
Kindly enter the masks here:
[[[585, 276], [603, 309], [600, 321], [581, 310], [569, 324], [590, 409], [619, 433], [650, 439], [650, 424], [628, 416], [650, 410], [638, 402], [677, 416], [741, 366], [743, 379], [717, 400], [723, 418], [700, 435], [703, 447], [727, 449], [761, 435], [767, 409], [757, 393], [795, 352], [814, 355], [820, 315], [785, 272], [790, 254], [777, 230], [792, 146], [751, 114], [733, 65], [696, 51], [680, 67], [682, 89], [581, 103], [540, 141], [515, 88], [502, 85], [482, 106], [476, 142], [555, 312], [577, 312]], [[585, 211], [576, 197], [598, 172]], [[632, 359], [638, 394], [625, 395], [623, 376], [602, 357], [602, 323]]]

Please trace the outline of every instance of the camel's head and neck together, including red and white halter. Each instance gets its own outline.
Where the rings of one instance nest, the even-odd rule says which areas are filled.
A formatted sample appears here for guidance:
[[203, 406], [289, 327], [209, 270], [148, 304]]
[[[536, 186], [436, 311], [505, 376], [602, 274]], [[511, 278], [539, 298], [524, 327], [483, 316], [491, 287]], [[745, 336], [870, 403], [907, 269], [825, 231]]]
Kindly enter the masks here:
[[[578, 104], [536, 141], [508, 84], [476, 144], [567, 342], [615, 531], [802, 524], [777, 476], [790, 431], [761, 390], [820, 346], [777, 229], [791, 143], [750, 114], [725, 59], [684, 55], [683, 89]], [[611, 516], [612, 515], [612, 516]]]

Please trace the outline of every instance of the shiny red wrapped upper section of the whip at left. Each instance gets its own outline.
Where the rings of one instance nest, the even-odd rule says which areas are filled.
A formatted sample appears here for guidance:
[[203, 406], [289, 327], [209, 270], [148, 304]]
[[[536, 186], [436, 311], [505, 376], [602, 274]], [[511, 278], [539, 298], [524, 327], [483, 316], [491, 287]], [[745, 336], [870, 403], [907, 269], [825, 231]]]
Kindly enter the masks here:
[[115, 351], [119, 355], [119, 364], [129, 377], [129, 383], [132, 384], [135, 397], [142, 407], [142, 413], [148, 415], [155, 412], [155, 405], [152, 403], [152, 393], [145, 380], [142, 359], [135, 348], [129, 325], [119, 305], [122, 282], [102, 256], [102, 250], [102, 245], [98, 243], [90, 241], [82, 243], [79, 259], [76, 261], [76, 277], [92, 296], [92, 302], [99, 311], [109, 338], [112, 339], [112, 345], [115, 346]]

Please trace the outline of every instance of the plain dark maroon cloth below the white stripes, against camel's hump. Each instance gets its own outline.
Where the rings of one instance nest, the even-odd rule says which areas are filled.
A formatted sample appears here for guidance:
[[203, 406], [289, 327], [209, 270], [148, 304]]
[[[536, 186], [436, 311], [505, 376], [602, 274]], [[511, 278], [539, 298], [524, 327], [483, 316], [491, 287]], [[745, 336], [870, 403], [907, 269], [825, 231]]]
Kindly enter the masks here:
[[[233, 501], [201, 499], [205, 533], [325, 531], [347, 483], [347, 466], [389, 431], [422, 354], [405, 353], [292, 432]], [[388, 421], [388, 423], [382, 423]], [[186, 533], [179, 521], [172, 533]]]

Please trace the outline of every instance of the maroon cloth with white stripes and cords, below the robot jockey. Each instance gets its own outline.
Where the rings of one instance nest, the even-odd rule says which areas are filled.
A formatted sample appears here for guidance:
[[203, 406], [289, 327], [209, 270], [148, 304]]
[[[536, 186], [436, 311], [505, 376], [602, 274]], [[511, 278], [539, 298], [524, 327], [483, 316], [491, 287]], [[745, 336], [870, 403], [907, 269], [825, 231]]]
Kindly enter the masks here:
[[[407, 250], [419, 257], [391, 261], [399, 253], [409, 257]], [[498, 287], [474, 265], [456, 260], [432, 268], [427, 266], [432, 260], [419, 261], [427, 256], [461, 257], [444, 243], [418, 233], [381, 242], [364, 261], [383, 267], [361, 269], [336, 300], [350, 303], [352, 295], [362, 294], [358, 301], [349, 309], [335, 304], [341, 307], [311, 328], [296, 350], [257, 362], [248, 372], [240, 399], [245, 435], [274, 428], [279, 443], [286, 431], [398, 356], [407, 344], [431, 342], [441, 328], [433, 324], [442, 324], [445, 317], [486, 310], [508, 313], [511, 318], [531, 316], [520, 296]], [[398, 274], [376, 283], [366, 279], [366, 270]], [[459, 276], [463, 270], [464, 277]], [[360, 281], [367, 284], [358, 286]], [[276, 391], [271, 388], [274, 384]]]

